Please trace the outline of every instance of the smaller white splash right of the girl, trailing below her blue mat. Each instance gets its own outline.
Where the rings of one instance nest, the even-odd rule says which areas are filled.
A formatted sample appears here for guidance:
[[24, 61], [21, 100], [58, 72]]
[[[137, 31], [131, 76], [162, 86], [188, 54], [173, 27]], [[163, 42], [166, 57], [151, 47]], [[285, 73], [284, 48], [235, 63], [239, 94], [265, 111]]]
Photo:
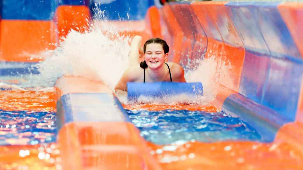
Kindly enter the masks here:
[[[203, 58], [203, 56], [201, 56]], [[185, 72], [186, 82], [201, 82], [203, 85], [203, 96], [192, 96], [187, 94], [178, 94], [174, 96], [146, 97], [140, 96], [138, 103], [155, 103], [155, 104], [178, 104], [178, 103], [194, 103], [199, 105], [208, 105], [218, 93], [220, 86], [219, 79], [222, 77], [231, 77], [229, 70], [231, 65], [218, 59], [216, 56], [204, 58], [203, 60], [195, 61], [198, 64], [197, 69], [188, 70]], [[221, 65], [218, 67], [218, 65]], [[218, 69], [218, 70], [217, 70]], [[221, 75], [220, 75], [221, 74]], [[232, 84], [232, 79], [227, 79], [229, 82], [225, 84]], [[122, 103], [132, 104], [134, 101], [128, 101], [126, 97], [119, 97]]]

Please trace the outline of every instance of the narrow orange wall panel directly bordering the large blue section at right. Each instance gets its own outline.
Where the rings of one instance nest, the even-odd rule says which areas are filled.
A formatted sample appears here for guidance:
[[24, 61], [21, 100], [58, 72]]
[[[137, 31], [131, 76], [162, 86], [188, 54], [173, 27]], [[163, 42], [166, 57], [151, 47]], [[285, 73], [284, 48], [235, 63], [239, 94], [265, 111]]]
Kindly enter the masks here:
[[238, 91], [245, 51], [238, 32], [225, 10], [224, 5], [226, 3], [227, 2], [207, 2], [206, 7], [224, 41], [224, 51], [222, 55], [220, 55], [222, 57], [220, 83], [231, 90]]

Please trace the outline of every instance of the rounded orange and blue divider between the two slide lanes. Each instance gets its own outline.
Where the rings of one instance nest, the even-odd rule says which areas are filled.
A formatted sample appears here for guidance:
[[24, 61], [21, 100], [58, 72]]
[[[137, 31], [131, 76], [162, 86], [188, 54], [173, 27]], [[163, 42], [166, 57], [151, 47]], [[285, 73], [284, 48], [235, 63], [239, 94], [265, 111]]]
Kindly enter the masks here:
[[56, 92], [64, 169], [161, 169], [106, 85], [83, 77], [62, 77]]

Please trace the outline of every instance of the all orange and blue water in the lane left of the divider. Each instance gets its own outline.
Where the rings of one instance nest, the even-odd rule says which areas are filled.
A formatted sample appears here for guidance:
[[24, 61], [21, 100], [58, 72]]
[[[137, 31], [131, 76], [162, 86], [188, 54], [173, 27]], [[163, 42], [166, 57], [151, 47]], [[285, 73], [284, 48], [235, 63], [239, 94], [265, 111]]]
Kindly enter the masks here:
[[60, 169], [54, 88], [0, 95], [0, 169]]

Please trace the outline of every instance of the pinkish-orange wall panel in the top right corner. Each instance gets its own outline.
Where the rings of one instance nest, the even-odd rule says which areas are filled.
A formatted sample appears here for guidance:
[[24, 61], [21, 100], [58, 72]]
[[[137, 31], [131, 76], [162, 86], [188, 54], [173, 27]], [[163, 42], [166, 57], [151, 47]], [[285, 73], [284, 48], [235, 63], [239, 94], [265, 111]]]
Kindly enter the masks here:
[[285, 2], [278, 5], [278, 10], [290, 31], [300, 53], [303, 57], [303, 3]]

